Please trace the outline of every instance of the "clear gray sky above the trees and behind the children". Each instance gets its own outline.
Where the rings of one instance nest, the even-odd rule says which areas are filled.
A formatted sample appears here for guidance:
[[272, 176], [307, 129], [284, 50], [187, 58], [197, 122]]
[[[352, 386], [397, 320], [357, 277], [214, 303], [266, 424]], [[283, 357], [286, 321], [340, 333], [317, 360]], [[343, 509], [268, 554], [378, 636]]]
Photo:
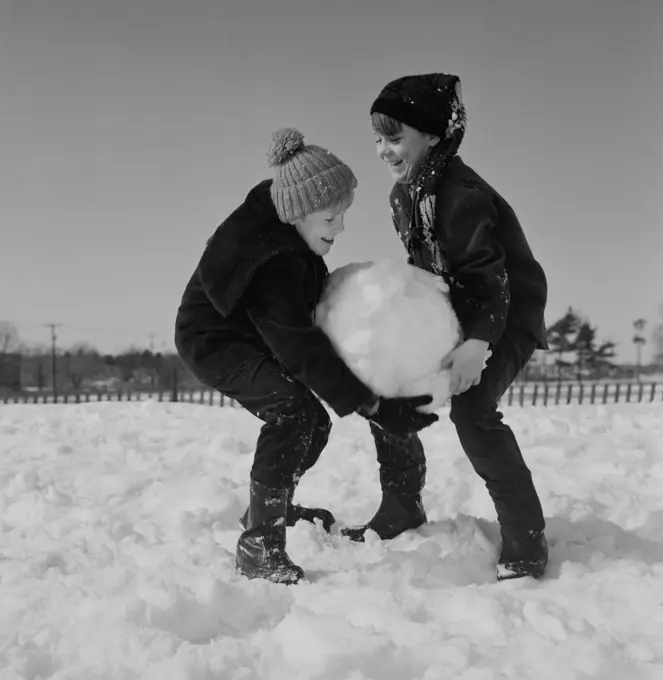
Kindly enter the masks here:
[[[0, 0], [0, 319], [172, 348], [206, 239], [295, 126], [359, 179], [328, 265], [402, 256], [368, 111], [460, 75], [461, 155], [569, 305], [635, 356], [663, 303], [661, 0]], [[153, 334], [153, 336], [150, 336]]]

